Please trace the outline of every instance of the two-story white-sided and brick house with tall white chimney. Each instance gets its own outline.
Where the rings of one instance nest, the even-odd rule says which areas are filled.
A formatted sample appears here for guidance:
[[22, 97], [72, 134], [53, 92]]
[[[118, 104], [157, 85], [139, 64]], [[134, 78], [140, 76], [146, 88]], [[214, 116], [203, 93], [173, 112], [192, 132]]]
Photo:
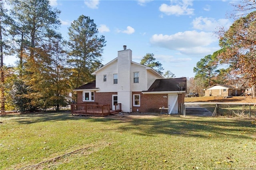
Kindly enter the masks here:
[[99, 105], [121, 103], [123, 112], [178, 113], [184, 104], [186, 77], [164, 79], [154, 69], [132, 61], [132, 50], [118, 51], [118, 57], [92, 73], [96, 80], [74, 89], [77, 104]]

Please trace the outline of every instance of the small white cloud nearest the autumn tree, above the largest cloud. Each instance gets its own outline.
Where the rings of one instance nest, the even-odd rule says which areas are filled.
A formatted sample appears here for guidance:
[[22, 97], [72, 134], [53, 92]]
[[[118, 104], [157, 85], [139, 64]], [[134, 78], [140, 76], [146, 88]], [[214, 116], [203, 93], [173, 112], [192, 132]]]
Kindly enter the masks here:
[[214, 18], [198, 17], [192, 21], [192, 24], [193, 28], [197, 30], [214, 31], [216, 28], [220, 26], [229, 28], [232, 23], [228, 19], [215, 20]]

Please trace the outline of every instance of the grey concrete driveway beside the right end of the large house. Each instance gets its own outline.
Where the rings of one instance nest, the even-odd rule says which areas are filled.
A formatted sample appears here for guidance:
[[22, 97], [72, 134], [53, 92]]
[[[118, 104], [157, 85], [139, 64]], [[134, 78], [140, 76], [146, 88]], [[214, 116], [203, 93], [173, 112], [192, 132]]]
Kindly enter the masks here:
[[185, 103], [186, 105], [186, 116], [206, 116], [211, 117], [212, 112], [207, 109], [200, 107], [199, 103]]

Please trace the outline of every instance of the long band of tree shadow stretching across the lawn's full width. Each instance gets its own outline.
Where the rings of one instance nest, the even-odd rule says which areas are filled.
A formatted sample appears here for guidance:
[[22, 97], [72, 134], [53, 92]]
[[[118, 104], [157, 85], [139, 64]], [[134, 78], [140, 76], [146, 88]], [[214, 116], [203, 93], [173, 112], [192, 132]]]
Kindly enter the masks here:
[[[132, 117], [85, 117], [74, 116], [69, 112], [33, 113], [22, 115], [5, 115], [4, 119], [14, 119], [20, 124], [32, 124], [41, 121], [76, 121], [103, 123], [104, 126], [118, 125], [116, 131], [129, 132], [136, 135], [157, 136], [168, 134], [184, 137], [200, 138], [239, 138], [254, 139], [256, 125], [252, 119], [212, 118], [212, 117], [164, 117], [155, 115], [147, 118]], [[4, 121], [2, 119], [2, 121]], [[98, 124], [97, 124], [98, 125]]]

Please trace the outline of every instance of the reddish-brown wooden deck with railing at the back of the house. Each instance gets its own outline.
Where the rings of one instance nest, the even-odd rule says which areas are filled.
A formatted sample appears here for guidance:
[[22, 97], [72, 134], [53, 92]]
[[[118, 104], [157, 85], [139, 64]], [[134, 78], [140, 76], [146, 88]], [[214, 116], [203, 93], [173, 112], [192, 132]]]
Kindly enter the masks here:
[[72, 115], [108, 116], [122, 111], [121, 103], [115, 105], [115, 110], [110, 110], [110, 105], [98, 105], [97, 103], [71, 104]]

